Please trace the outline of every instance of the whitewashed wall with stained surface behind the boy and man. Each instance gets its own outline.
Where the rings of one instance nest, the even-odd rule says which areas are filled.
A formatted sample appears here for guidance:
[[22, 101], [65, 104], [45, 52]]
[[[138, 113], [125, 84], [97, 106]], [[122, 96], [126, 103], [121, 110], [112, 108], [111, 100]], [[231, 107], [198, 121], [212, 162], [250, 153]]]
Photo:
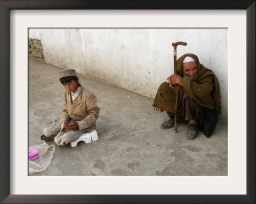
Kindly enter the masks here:
[[29, 29], [29, 38], [42, 41], [45, 62], [104, 80], [154, 98], [161, 82], [173, 73], [173, 47], [177, 58], [196, 54], [212, 69], [221, 87], [220, 115], [227, 122], [227, 29]]

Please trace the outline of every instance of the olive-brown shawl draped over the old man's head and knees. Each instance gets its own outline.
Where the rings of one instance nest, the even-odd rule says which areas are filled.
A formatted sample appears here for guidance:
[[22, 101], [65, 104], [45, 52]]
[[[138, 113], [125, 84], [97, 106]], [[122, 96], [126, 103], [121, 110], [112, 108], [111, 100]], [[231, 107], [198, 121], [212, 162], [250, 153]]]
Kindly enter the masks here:
[[[188, 96], [196, 101], [198, 105], [215, 109], [216, 112], [221, 112], [220, 105], [220, 85], [214, 73], [200, 64], [198, 57], [194, 54], [184, 54], [177, 60], [177, 74], [183, 76], [182, 62], [184, 57], [190, 56], [195, 59], [198, 71], [196, 75], [189, 80], [189, 78], [182, 78], [180, 80], [183, 84], [175, 85], [175, 89], [169, 87], [167, 82], [159, 86], [159, 89], [154, 99], [152, 106], [159, 108], [159, 110], [167, 112], [175, 112], [178, 110], [184, 90]], [[176, 100], [175, 100], [175, 95]]]

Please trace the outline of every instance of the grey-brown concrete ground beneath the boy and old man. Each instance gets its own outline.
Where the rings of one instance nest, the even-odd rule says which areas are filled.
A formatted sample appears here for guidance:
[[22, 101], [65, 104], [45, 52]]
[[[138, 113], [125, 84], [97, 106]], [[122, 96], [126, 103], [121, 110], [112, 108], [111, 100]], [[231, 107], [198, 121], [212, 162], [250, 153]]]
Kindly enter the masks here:
[[[60, 70], [29, 56], [29, 147], [41, 144], [43, 129], [60, 117], [65, 91], [58, 80]], [[178, 126], [178, 133], [159, 128], [168, 117], [154, 110], [152, 98], [95, 78], [78, 77], [97, 97], [99, 140], [79, 142], [73, 148], [55, 145], [51, 164], [31, 176], [227, 175], [227, 124], [218, 121], [211, 138], [199, 132], [190, 141], [187, 124]]]

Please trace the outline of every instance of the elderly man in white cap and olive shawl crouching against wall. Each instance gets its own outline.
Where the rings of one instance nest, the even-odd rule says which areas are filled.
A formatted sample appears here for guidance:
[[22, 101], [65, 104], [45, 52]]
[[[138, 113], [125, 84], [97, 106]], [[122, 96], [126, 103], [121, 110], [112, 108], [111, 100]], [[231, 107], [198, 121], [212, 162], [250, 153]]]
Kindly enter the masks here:
[[172, 128], [177, 112], [177, 122], [189, 122], [188, 140], [194, 140], [198, 130], [209, 138], [216, 127], [216, 112], [221, 112], [220, 85], [214, 73], [196, 55], [184, 54], [177, 60], [177, 75], [167, 80], [159, 86], [152, 105], [170, 118], [161, 128]]

